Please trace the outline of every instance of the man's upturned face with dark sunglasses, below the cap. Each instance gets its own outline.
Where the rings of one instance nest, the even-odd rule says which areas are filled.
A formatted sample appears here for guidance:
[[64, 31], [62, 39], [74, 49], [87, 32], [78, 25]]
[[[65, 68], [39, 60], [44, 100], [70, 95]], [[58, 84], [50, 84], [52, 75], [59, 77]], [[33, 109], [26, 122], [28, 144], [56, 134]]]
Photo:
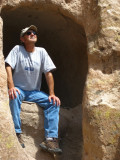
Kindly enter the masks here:
[[20, 38], [21, 41], [26, 44], [35, 44], [37, 42], [36, 32], [33, 30], [28, 30], [23, 37]]

